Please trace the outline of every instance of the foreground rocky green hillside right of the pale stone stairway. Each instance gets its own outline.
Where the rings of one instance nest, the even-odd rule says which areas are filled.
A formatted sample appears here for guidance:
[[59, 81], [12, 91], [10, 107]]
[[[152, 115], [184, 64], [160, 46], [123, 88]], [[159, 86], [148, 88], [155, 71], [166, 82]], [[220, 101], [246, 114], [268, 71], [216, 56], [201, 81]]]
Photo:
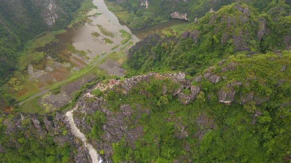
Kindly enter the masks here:
[[281, 163], [291, 158], [290, 66], [288, 51], [238, 53], [195, 77], [99, 83], [75, 122], [112, 162]]

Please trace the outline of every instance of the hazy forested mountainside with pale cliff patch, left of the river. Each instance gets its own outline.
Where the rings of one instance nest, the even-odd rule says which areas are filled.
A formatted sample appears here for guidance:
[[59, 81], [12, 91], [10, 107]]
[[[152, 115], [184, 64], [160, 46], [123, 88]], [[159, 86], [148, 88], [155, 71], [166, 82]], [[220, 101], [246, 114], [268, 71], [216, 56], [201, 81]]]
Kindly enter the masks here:
[[0, 84], [14, 71], [23, 44], [45, 30], [66, 27], [81, 1], [0, 1]]

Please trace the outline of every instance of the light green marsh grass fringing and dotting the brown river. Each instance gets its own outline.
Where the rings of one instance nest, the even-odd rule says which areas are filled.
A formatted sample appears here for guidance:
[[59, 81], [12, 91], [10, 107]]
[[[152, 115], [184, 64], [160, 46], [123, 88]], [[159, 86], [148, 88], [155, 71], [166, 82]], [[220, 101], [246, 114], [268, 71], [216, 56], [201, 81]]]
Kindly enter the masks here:
[[[114, 7], [112, 8], [112, 6], [110, 7], [110, 5], [109, 5], [110, 2], [109, 3], [108, 3], [108, 1], [105, 1], [105, 2], [108, 5], [109, 10], [111, 12], [113, 11], [113, 13], [118, 17], [118, 19], [120, 19], [120, 14], [119, 15], [116, 14], [115, 13], [116, 11], [118, 11], [118, 12], [120, 11], [120, 12], [123, 12], [123, 13], [127, 12], [126, 10], [120, 8], [120, 6], [114, 6], [115, 8]], [[115, 4], [115, 5], [117, 5], [117, 4]], [[81, 7], [77, 11], [75, 11], [75, 14], [74, 14], [75, 18], [71, 21], [71, 24], [68, 27], [72, 27], [73, 24], [75, 24], [77, 22], [80, 22], [80, 21], [87, 21], [88, 17], [90, 17], [90, 16], [100, 15], [100, 13], [95, 13], [95, 14], [91, 14], [91, 15], [88, 14], [88, 12], [90, 12], [92, 9], [94, 10], [96, 8], [97, 8], [97, 6], [94, 6], [94, 4], [92, 3], [91, 0], [84, 0], [84, 2], [82, 3]], [[175, 29], [173, 28], [173, 30], [174, 31], [177, 30], [178, 33], [180, 33], [185, 27], [186, 26], [177, 25], [177, 27], [174, 27]], [[114, 33], [113, 32], [108, 31], [107, 29], [105, 29], [101, 25], [96, 25], [96, 28], [99, 28], [100, 32], [102, 34], [106, 35], [106, 36], [109, 36], [109, 38], [113, 38], [114, 37]], [[20, 63], [31, 62], [30, 60], [28, 60], [27, 54], [35, 53], [37, 48], [44, 47], [48, 43], [58, 42], [58, 40], [56, 39], [56, 35], [62, 34], [64, 32], [66, 32], [65, 29], [60, 29], [60, 30], [57, 30], [57, 31], [46, 31], [46, 32], [43, 32], [43, 33], [39, 34], [34, 39], [30, 40], [28, 43], [25, 44], [25, 50], [23, 51], [23, 54], [22, 54], [22, 56], [20, 58]], [[125, 30], [119, 30], [119, 32], [120, 32], [120, 35], [118, 37], [122, 38], [122, 40], [120, 42], [120, 45], [119, 44], [115, 45], [114, 47], [111, 48], [111, 51], [117, 49], [119, 46], [122, 46], [122, 47], [120, 47], [120, 50], [118, 50], [116, 52], [115, 51], [111, 52], [110, 54], [108, 54], [108, 56], [104, 57], [104, 59], [102, 59], [98, 63], [103, 63], [103, 62], [105, 62], [105, 58], [110, 58], [110, 59], [115, 60], [118, 63], [120, 63], [122, 65], [122, 67], [126, 67], [123, 64], [124, 61], [126, 60], [126, 53], [125, 53], [124, 50], [125, 50], [125, 48], [133, 45], [133, 42], [130, 41], [132, 39], [132, 35], [130, 33], [126, 32]], [[97, 38], [101, 34], [98, 33], [98, 32], [93, 32], [93, 33], [91, 33], [91, 35]], [[103, 38], [103, 41], [106, 44], [112, 44], [113, 41], [110, 40], [109, 38], [105, 37], [105, 38]], [[66, 49], [67, 50], [65, 50], [66, 51], [65, 54], [70, 54], [69, 52], [72, 52], [72, 53], [78, 54], [79, 56], [87, 58], [85, 51], [78, 51], [73, 47], [73, 45], [70, 45], [70, 44], [66, 45]], [[97, 56], [100, 56], [100, 55], [97, 55]], [[102, 54], [102, 55], [104, 55], [104, 54]], [[16, 81], [20, 82], [19, 85], [23, 86], [23, 89], [25, 89], [26, 91], [13, 92], [13, 91], [10, 90], [10, 88], [9, 88], [9, 86], [7, 84], [3, 85], [0, 88], [2, 92], [5, 92], [5, 96], [8, 96], [9, 99], [15, 99], [15, 101], [10, 103], [10, 105], [11, 104], [13, 105], [13, 103], [15, 104], [15, 102], [18, 103], [18, 104], [21, 103], [22, 105], [21, 106], [17, 105], [16, 108], [20, 108], [21, 110], [28, 111], [28, 112], [30, 112], [30, 111], [35, 112], [36, 111], [36, 112], [39, 112], [39, 113], [45, 113], [45, 110], [41, 109], [39, 104], [37, 104], [37, 100], [39, 98], [41, 98], [44, 94], [41, 94], [41, 95], [39, 95], [37, 97], [34, 97], [33, 99], [30, 99], [31, 97], [39, 94], [39, 92], [42, 92], [43, 90], [48, 90], [48, 92], [45, 92], [45, 94], [48, 94], [50, 92], [52, 92], [54, 94], [55, 93], [55, 88], [59, 89], [60, 87], [66, 85], [68, 83], [74, 82], [77, 79], [81, 78], [82, 76], [85, 76], [88, 73], [93, 73], [93, 74], [98, 75], [98, 76], [107, 76], [107, 73], [105, 71], [100, 70], [98, 68], [98, 64], [96, 64], [95, 66], [92, 65], [93, 62], [94, 62], [94, 64], [97, 63], [96, 60], [99, 57], [93, 59], [93, 61], [91, 61], [91, 63], [89, 63], [89, 64], [84, 63], [82, 60], [80, 60], [80, 59], [78, 59], [76, 57], [73, 57], [75, 62], [71, 62], [70, 61], [70, 57], [68, 58], [67, 55], [61, 56], [61, 57], [63, 57], [63, 59], [65, 59], [65, 60], [69, 59], [68, 61], [69, 61], [69, 63], [71, 63], [71, 65], [75, 65], [76, 64], [75, 62], [77, 62], [79, 64], [85, 65], [85, 67], [81, 68], [81, 70], [79, 70], [79, 71], [70, 73], [70, 76], [65, 77], [64, 80], [61, 80], [59, 82], [50, 83], [48, 85], [44, 85], [44, 86], [41, 87], [41, 86], [38, 85], [37, 82], [29, 81], [27, 75], [25, 75], [23, 73], [23, 72], [27, 72], [28, 63], [20, 64], [20, 65], [22, 65], [21, 68], [19, 69], [20, 71], [19, 70], [16, 71], [14, 76], [16, 76], [16, 78], [17, 78]], [[34, 60], [35, 58], [33, 57], [32, 59]], [[38, 59], [38, 60], [36, 60], [36, 61], [41, 61], [41, 59], [43, 60], [43, 57]], [[43, 67], [44, 63], [42, 62], [41, 64], [39, 64], [39, 66]], [[9, 104], [7, 98], [6, 98], [6, 103]], [[31, 108], [31, 109], [27, 109], [27, 108]]]

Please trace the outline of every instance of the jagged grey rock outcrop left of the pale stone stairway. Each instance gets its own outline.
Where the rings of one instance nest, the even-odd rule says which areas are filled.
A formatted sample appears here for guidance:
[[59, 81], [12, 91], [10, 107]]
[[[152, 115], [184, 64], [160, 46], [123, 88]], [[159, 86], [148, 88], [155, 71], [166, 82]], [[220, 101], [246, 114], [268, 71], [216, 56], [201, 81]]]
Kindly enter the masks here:
[[[7, 112], [2, 112], [0, 117], [6, 117]], [[18, 113], [14, 118], [9, 120], [6, 118], [2, 122], [6, 125], [4, 134], [20, 134], [25, 138], [34, 137], [36, 140], [46, 140], [47, 136], [52, 136], [53, 141], [58, 146], [63, 146], [69, 142], [71, 146], [76, 148], [76, 154], [72, 153], [73, 160], [76, 163], [86, 163], [88, 152], [82, 148], [82, 144], [73, 138], [69, 126], [66, 126], [65, 115], [61, 111], [55, 112], [55, 117], [51, 115], [40, 115], [37, 113]], [[64, 132], [66, 131], [66, 134]], [[9, 149], [19, 148], [21, 144], [14, 138], [9, 139]], [[6, 151], [0, 142], [0, 153]]]

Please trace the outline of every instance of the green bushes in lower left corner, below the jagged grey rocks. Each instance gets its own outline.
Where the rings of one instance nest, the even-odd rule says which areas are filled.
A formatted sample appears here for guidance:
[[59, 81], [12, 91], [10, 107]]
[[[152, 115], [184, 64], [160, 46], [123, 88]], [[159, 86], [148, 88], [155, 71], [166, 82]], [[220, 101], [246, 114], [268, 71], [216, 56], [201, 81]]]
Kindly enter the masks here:
[[[4, 153], [0, 153], [1, 161], [5, 163], [19, 162], [46, 162], [46, 163], [67, 163], [72, 161], [70, 143], [56, 143], [53, 138], [57, 136], [57, 132], [47, 134], [43, 132], [45, 128], [43, 116], [36, 118], [40, 121], [40, 130], [34, 130], [31, 117], [25, 117], [21, 121], [22, 129], [13, 129], [15, 133], [9, 132], [4, 134], [7, 125], [2, 124], [3, 119], [6, 124], [12, 124], [15, 115], [1, 115], [0, 117], [0, 142], [1, 148], [5, 149]], [[41, 133], [39, 133], [41, 132]], [[43, 133], [42, 133], [43, 132]], [[64, 132], [65, 133], [65, 132]], [[17, 148], [15, 147], [17, 144]]]

